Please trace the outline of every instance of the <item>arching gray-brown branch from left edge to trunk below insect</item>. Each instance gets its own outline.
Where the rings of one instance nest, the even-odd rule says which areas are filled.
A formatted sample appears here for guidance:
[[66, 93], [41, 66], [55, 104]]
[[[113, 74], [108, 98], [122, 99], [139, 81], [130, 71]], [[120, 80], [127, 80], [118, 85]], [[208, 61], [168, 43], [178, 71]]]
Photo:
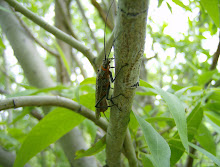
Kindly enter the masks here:
[[1, 100], [0, 111], [9, 108], [27, 106], [59, 106], [70, 109], [93, 121], [103, 130], [107, 130], [107, 122], [104, 119], [97, 120], [95, 113], [88, 108], [74, 102], [71, 99], [60, 96], [21, 96]]

